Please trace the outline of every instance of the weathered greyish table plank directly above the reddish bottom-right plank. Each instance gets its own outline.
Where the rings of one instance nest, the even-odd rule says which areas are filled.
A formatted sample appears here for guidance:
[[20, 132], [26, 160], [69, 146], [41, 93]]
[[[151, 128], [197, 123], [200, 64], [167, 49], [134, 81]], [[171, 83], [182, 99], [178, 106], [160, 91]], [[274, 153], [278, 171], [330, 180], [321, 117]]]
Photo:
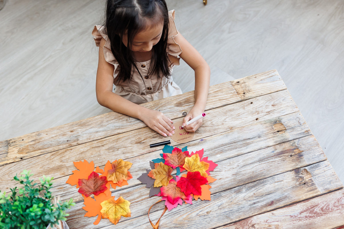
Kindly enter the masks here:
[[[211, 201], [194, 201], [191, 206], [178, 206], [163, 216], [159, 227], [208, 228], [210, 221], [212, 227], [219, 227], [238, 219], [265, 213], [342, 187], [342, 183], [329, 162], [323, 161], [223, 192], [214, 192]], [[225, 202], [224, 199], [228, 199], [228, 202]], [[136, 207], [134, 204], [132, 205], [133, 211]], [[153, 221], [160, 217], [162, 205], [160, 209], [160, 211], [154, 211], [150, 214]], [[148, 211], [148, 208], [146, 210]], [[85, 223], [85, 221], [87, 222]], [[90, 225], [92, 220], [86, 217], [80, 220], [80, 214], [78, 214], [71, 215], [67, 222], [73, 229], [76, 226]], [[140, 228], [150, 227], [147, 215], [135, 217], [132, 214], [130, 218], [122, 218], [116, 228], [135, 228], [137, 222], [142, 222]], [[113, 225], [109, 221], [101, 220], [98, 227], [95, 228], [111, 227]]]

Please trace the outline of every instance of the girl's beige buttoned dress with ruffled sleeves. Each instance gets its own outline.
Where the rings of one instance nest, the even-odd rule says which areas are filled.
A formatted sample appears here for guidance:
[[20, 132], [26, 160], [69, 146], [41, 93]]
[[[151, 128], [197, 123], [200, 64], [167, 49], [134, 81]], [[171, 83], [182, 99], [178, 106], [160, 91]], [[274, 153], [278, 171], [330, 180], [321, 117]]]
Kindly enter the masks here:
[[[175, 43], [174, 37], [178, 35], [177, 28], [174, 22], [174, 10], [169, 11], [169, 34], [168, 34], [168, 44], [166, 52], [170, 59], [170, 72], [172, 73], [173, 66], [179, 65], [179, 54], [182, 53], [180, 46]], [[105, 45], [103, 47], [105, 60], [110, 64], [114, 65], [114, 78], [117, 77], [120, 66], [116, 58], [111, 52], [111, 45], [108, 36], [106, 35], [106, 28], [104, 26], [96, 25], [92, 35], [96, 45], [99, 47], [101, 38], [105, 39]], [[146, 103], [153, 100], [163, 99], [169, 96], [182, 94], [182, 90], [178, 85], [173, 82], [172, 77], [167, 79], [162, 76], [159, 79], [155, 76], [148, 76], [148, 70], [150, 66], [150, 60], [146, 62], [136, 62], [137, 68], [139, 69], [140, 74], [135, 71], [134, 75], [130, 82], [122, 82], [116, 84], [114, 92], [123, 98], [134, 102], [136, 104]]]

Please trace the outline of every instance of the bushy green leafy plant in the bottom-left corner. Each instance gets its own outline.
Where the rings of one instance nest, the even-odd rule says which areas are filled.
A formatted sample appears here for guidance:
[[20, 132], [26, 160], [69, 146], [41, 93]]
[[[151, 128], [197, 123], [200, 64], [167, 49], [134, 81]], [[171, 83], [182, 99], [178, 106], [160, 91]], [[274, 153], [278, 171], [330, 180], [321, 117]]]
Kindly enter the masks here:
[[0, 191], [0, 228], [45, 229], [69, 216], [65, 211], [74, 205], [73, 200], [56, 201], [49, 191], [53, 178], [43, 175], [41, 184], [37, 184], [30, 180], [32, 175], [24, 170], [21, 176], [14, 176], [13, 179], [24, 187], [11, 188], [11, 195]]

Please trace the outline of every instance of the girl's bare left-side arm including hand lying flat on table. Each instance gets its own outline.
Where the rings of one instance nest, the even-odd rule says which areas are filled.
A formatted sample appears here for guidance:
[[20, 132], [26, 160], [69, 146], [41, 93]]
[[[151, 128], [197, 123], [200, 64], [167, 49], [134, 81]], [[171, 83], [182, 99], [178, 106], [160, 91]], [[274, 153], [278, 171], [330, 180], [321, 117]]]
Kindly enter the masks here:
[[105, 60], [103, 48], [105, 40], [102, 39], [99, 46], [99, 60], [96, 79], [96, 95], [100, 105], [112, 111], [125, 114], [142, 120], [148, 127], [157, 131], [162, 136], [172, 136], [174, 126], [171, 119], [163, 113], [140, 106], [120, 95], [112, 92], [114, 82], [114, 66]]

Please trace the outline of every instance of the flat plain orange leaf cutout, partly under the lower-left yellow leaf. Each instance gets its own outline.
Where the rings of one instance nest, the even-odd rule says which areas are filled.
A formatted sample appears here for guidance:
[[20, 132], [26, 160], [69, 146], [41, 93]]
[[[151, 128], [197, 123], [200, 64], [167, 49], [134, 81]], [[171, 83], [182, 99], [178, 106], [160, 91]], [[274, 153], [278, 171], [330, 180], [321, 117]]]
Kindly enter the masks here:
[[101, 205], [100, 203], [103, 201], [108, 200], [109, 198], [115, 199], [115, 196], [111, 196], [111, 192], [106, 195], [106, 193], [99, 193], [99, 195], [94, 196], [94, 198], [88, 196], [88, 197], [84, 197], [84, 207], [83, 209], [86, 212], [86, 214], [84, 216], [87, 217], [92, 217], [92, 216], [98, 216], [96, 221], [94, 221], [94, 225], [99, 224], [99, 221], [101, 219]]

